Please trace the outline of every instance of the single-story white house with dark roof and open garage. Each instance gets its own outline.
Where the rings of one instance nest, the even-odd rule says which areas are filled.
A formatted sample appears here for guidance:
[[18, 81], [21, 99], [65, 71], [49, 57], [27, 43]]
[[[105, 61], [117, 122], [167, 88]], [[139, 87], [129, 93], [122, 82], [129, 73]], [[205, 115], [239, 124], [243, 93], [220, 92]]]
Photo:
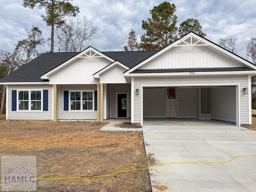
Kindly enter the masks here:
[[43, 53], [0, 80], [6, 119], [68, 120], [170, 117], [252, 123], [256, 66], [190, 32], [158, 51]]

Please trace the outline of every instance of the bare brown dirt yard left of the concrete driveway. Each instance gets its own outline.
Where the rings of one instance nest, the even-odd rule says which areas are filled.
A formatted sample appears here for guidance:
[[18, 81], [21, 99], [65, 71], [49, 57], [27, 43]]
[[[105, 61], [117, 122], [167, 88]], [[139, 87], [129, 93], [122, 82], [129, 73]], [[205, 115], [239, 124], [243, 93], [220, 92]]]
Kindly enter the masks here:
[[[37, 178], [88, 177], [147, 167], [142, 133], [99, 132], [98, 122], [0, 121], [0, 155], [32, 155]], [[37, 191], [148, 192], [148, 170], [37, 181]]]

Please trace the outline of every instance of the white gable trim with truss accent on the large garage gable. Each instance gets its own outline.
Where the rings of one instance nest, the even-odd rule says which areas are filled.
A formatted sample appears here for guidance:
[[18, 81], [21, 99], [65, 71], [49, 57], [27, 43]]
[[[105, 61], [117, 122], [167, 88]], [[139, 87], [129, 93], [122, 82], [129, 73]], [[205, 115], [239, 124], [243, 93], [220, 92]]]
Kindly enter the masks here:
[[218, 46], [217, 44], [207, 40], [206, 38], [203, 38], [203, 37], [195, 34], [194, 32], [190, 32], [190, 33], [186, 34], [185, 36], [183, 36], [182, 38], [176, 40], [172, 44], [166, 46], [162, 50], [158, 51], [156, 54], [152, 55], [151, 57], [147, 58], [146, 60], [140, 62], [133, 68], [130, 68], [130, 70], [127, 70], [126, 72], [124, 72], [124, 76], [131, 76], [131, 74], [130, 74], [131, 72], [140, 68], [142, 65], [150, 62], [151, 60], [155, 59], [156, 57], [160, 56], [164, 52], [167, 52], [168, 50], [170, 50], [171, 48], [173, 48], [175, 46], [211, 46], [211, 47], [215, 48], [216, 50], [219, 50], [220, 52], [238, 60], [239, 62], [242, 62], [246, 66], [256, 69], [256, 66], [254, 64], [250, 63], [249, 61], [245, 60], [244, 58], [241, 58], [240, 56], [237, 56], [236, 54], [229, 52], [228, 50]]

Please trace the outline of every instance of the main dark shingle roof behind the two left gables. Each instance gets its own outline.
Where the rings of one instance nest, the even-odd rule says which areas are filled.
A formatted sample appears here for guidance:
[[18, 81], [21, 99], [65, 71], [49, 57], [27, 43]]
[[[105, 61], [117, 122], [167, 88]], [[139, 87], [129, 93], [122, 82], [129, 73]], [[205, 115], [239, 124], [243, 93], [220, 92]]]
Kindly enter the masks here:
[[[131, 68], [156, 52], [157, 51], [120, 51], [102, 53]], [[40, 77], [74, 57], [76, 54], [78, 54], [78, 52], [43, 53], [20, 67], [18, 70], [12, 72], [10, 75], [2, 78], [0, 82], [48, 82], [48, 80], [43, 80]]]

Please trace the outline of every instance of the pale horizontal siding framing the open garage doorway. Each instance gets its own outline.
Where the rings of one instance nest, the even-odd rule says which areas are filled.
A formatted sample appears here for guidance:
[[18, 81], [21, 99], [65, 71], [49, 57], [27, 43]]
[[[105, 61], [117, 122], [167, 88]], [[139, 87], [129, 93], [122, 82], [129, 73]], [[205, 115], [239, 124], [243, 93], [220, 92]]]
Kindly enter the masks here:
[[[134, 77], [134, 123], [142, 122], [142, 86], [236, 86], [239, 85], [240, 124], [249, 124], [248, 94], [242, 94], [242, 88], [248, 88], [248, 76], [186, 76], [186, 77]], [[136, 89], [139, 95], [136, 95]]]

